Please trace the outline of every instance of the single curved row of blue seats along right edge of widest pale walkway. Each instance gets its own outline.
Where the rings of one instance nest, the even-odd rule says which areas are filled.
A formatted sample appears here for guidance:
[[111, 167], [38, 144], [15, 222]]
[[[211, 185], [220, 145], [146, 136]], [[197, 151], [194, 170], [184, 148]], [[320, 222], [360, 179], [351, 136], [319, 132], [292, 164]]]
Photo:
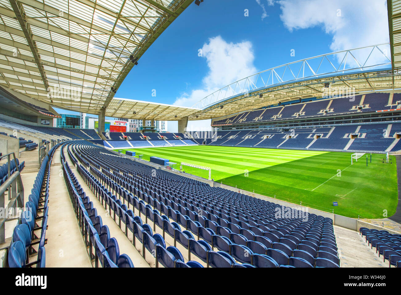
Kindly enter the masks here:
[[[63, 149], [65, 145], [61, 148]], [[107, 225], [103, 225], [101, 216], [97, 215], [96, 208], [85, 195], [77, 178], [65, 161], [63, 150], [61, 151], [61, 161], [63, 163], [63, 174], [71, 202], [79, 220], [81, 234], [85, 237], [86, 247], [89, 247], [89, 257], [95, 260], [95, 267], [134, 267], [130, 257], [119, 253], [118, 242], [115, 238], [110, 238]], [[93, 253], [93, 249], [95, 249]]]

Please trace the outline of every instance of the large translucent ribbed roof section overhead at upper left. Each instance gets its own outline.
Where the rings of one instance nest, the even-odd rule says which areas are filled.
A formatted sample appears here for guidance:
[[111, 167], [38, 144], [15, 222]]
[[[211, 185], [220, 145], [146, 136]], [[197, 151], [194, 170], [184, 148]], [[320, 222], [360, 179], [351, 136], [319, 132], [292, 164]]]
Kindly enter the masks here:
[[0, 84], [98, 113], [193, 0], [0, 0]]

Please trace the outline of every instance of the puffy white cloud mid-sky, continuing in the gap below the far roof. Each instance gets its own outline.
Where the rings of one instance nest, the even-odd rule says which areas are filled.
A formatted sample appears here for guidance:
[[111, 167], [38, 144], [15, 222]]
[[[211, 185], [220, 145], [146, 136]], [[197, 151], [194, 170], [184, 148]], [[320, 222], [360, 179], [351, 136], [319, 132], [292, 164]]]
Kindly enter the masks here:
[[[209, 43], [203, 45], [202, 54], [202, 57], [206, 59], [209, 72], [202, 80], [201, 89], [183, 93], [181, 97], [177, 97], [174, 105], [192, 107], [221, 87], [257, 72], [253, 65], [255, 57], [252, 44], [249, 41], [228, 43], [221, 36], [216, 36], [210, 38]], [[211, 129], [210, 120], [188, 122], [188, 130], [196, 128]]]

